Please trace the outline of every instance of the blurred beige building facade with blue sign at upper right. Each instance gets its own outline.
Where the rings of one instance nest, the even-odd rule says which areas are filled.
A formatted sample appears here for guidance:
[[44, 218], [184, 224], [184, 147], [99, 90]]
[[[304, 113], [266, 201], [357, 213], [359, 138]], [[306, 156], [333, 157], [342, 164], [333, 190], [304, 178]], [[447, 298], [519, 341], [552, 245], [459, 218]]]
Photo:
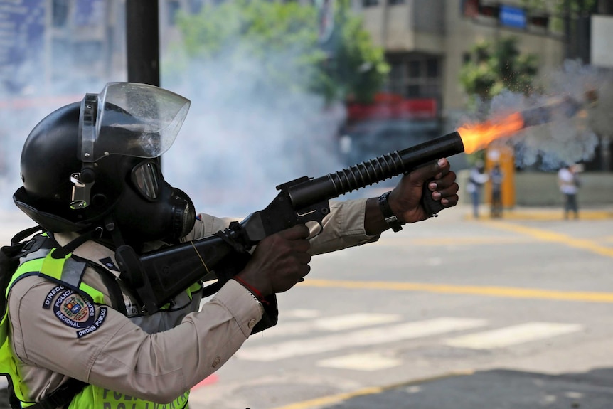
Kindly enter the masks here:
[[[538, 80], [565, 60], [613, 70], [613, 1], [592, 10], [527, 10], [521, 0], [354, 0], [375, 43], [391, 65], [388, 91], [407, 98], [439, 101], [444, 127], [453, 129], [467, 106], [459, 70], [477, 41], [513, 36], [521, 53], [538, 56]], [[580, 2], [581, 3], [581, 2]], [[613, 171], [613, 135], [597, 129], [601, 141], [589, 170]]]

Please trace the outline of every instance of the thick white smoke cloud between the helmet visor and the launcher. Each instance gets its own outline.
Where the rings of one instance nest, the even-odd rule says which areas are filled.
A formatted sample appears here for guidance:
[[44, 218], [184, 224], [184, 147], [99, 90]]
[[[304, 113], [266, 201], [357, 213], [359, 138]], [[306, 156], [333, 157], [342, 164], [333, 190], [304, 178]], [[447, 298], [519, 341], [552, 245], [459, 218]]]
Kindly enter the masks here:
[[[191, 60], [180, 77], [163, 77], [191, 108], [162, 163], [166, 179], [198, 211], [246, 216], [277, 195], [275, 186], [341, 169], [337, 132], [345, 111], [304, 90], [309, 73], [296, 70], [294, 50], [266, 51], [284, 73], [279, 83], [246, 54]], [[287, 83], [294, 87], [286, 87]], [[163, 85], [164, 85], [163, 83]]]

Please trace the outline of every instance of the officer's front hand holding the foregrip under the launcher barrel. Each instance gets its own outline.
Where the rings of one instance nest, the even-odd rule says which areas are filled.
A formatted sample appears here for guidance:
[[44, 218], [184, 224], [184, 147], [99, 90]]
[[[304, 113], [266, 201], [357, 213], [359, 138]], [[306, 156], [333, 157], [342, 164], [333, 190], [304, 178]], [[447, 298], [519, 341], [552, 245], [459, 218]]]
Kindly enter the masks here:
[[[427, 184], [425, 188], [424, 184]], [[437, 210], [440, 210], [457, 205], [458, 190], [456, 174], [451, 170], [449, 161], [439, 159], [405, 174], [390, 193], [389, 204], [402, 223], [415, 223], [430, 218], [433, 213], [425, 208], [422, 195], [431, 195], [432, 200], [437, 202]]]

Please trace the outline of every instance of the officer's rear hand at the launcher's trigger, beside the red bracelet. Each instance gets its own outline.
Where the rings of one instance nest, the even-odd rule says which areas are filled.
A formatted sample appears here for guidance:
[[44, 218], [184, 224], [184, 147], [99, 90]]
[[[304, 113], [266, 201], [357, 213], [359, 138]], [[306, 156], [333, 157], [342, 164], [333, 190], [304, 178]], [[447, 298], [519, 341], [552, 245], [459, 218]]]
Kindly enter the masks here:
[[306, 225], [295, 225], [264, 238], [238, 277], [262, 293], [284, 292], [304, 281], [311, 266], [311, 243]]

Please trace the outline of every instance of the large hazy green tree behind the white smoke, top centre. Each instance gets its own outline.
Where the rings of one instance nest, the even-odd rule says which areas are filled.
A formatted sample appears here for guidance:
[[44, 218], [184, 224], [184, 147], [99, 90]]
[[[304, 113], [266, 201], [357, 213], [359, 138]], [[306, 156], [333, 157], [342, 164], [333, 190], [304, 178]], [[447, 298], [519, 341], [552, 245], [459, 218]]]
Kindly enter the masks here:
[[318, 9], [298, 2], [225, 1], [198, 14], [180, 14], [177, 26], [188, 59], [223, 55], [240, 65], [246, 58], [289, 92], [318, 92], [329, 102], [350, 96], [371, 100], [389, 69], [383, 50], [373, 45], [361, 18], [351, 14], [349, 0], [336, 0], [334, 6], [334, 31], [325, 42]]

